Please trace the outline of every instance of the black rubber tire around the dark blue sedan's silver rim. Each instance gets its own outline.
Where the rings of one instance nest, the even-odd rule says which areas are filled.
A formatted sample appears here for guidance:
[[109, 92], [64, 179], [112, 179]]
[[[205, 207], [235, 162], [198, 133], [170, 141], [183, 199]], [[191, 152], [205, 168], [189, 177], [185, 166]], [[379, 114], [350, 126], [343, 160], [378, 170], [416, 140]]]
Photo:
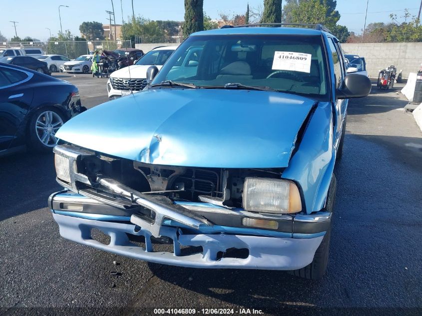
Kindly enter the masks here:
[[47, 136], [47, 137], [49, 137], [49, 144], [48, 145], [45, 145], [44, 143], [42, 143], [42, 141], [38, 138], [38, 135], [37, 135], [37, 126], [39, 127], [39, 125], [37, 125], [37, 120], [38, 120], [39, 116], [46, 111], [53, 112], [54, 113], [53, 116], [55, 118], [60, 118], [61, 121], [62, 121], [61, 125], [63, 125], [66, 122], [66, 118], [63, 115], [63, 113], [61, 113], [60, 110], [58, 110], [54, 107], [43, 107], [43, 108], [36, 110], [33, 113], [33, 115], [31, 116], [31, 118], [28, 122], [28, 126], [27, 126], [27, 133], [28, 133], [27, 145], [33, 151], [51, 152], [52, 148], [54, 147], [54, 141], [53, 141], [53, 138], [50, 137], [50, 135], [52, 134], [52, 136], [54, 136], [58, 127], [61, 126], [61, 125], [59, 125], [57, 127], [57, 129], [54, 129], [53, 131], [51, 131], [50, 134]]

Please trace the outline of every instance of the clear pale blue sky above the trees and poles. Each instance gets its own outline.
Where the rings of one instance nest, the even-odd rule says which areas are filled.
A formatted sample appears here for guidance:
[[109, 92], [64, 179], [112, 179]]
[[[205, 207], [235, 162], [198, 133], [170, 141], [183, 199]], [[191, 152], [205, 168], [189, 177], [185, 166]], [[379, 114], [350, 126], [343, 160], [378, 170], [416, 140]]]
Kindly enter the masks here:
[[[122, 2], [122, 7], [120, 6]], [[151, 20], [182, 21], [184, 0], [134, 0], [135, 14]], [[250, 7], [262, 5], [263, 0], [204, 0], [204, 11], [211, 18], [218, 18], [219, 13], [244, 14], [246, 3]], [[10, 38], [14, 36], [13, 23], [17, 21], [16, 32], [21, 38], [31, 36], [40, 40], [60, 30], [58, 5], [61, 7], [63, 31], [69, 29], [73, 35], [80, 35], [79, 25], [83, 21], [108, 23], [106, 10], [111, 10], [111, 0], [0, 0], [0, 32]], [[132, 14], [131, 0], [113, 0], [116, 24], [121, 24], [122, 11], [124, 19]], [[337, 9], [341, 14], [339, 23], [349, 30], [361, 32], [365, 22], [367, 0], [337, 0]], [[389, 22], [390, 13], [402, 16], [405, 8], [411, 9], [413, 15], [419, 11], [420, 0], [369, 0], [367, 25], [371, 22]], [[398, 18], [401, 21], [401, 18]]]

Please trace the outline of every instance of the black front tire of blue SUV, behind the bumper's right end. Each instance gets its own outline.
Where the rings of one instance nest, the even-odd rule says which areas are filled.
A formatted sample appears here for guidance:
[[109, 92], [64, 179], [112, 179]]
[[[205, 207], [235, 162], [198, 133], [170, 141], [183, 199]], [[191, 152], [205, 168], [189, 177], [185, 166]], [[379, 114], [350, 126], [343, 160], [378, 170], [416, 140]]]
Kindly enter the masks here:
[[[333, 213], [334, 203], [336, 200], [336, 188], [337, 180], [336, 176], [333, 173], [331, 177], [330, 187], [328, 189], [327, 201], [325, 203], [325, 208], [330, 213]], [[314, 260], [305, 268], [289, 271], [291, 275], [300, 277], [307, 280], [321, 280], [327, 271], [328, 258], [330, 253], [330, 237], [331, 237], [331, 226], [327, 230], [320, 246], [314, 255]]]

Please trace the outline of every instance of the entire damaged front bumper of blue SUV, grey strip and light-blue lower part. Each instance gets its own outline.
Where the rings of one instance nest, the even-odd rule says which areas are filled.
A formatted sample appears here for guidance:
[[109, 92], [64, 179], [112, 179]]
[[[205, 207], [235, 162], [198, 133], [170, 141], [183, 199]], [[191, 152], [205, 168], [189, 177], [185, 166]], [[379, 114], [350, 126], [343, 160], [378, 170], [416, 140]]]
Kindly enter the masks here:
[[[160, 223], [158, 226], [139, 222], [136, 209], [116, 208], [71, 191], [52, 194], [49, 205], [60, 235], [66, 239], [134, 259], [192, 268], [303, 268], [312, 262], [331, 221], [327, 212], [274, 216], [192, 202], [177, 202], [176, 210], [182, 207], [186, 213], [180, 218], [170, 213], [168, 218], [165, 214], [168, 210], [173, 212], [172, 207], [163, 210], [159, 198], [156, 203], [154, 199], [149, 199], [149, 207], [161, 214], [156, 221]], [[244, 227], [242, 218], [275, 220], [278, 229]], [[189, 225], [192, 219], [197, 226]], [[158, 232], [154, 231], [157, 227]], [[108, 235], [110, 242], [104, 244], [93, 239], [92, 229]], [[168, 241], [172, 250], [154, 251], [157, 236]], [[143, 241], [141, 245], [132, 242], [139, 237]], [[185, 252], [189, 247], [196, 248]], [[226, 256], [233, 249], [242, 251], [242, 255], [234, 252]]]

